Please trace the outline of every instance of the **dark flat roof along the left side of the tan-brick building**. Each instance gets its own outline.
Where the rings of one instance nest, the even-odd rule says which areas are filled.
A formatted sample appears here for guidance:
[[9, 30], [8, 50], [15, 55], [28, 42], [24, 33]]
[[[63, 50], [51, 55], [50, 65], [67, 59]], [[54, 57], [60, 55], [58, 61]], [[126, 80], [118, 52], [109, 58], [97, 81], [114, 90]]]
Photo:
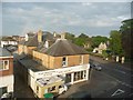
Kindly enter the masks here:
[[48, 68], [45, 68], [44, 66], [40, 64], [35, 60], [32, 60], [28, 56], [20, 56], [18, 60], [27, 69], [31, 69], [34, 72], [49, 70]]

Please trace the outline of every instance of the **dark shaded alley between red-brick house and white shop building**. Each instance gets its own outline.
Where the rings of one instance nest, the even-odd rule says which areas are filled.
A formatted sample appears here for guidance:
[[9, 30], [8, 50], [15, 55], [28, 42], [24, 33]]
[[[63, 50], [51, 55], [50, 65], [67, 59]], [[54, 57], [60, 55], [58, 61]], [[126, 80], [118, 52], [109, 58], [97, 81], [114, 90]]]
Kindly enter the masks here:
[[21, 76], [19, 76], [19, 67], [20, 64], [14, 61], [13, 62], [13, 73], [14, 73], [14, 98], [18, 99], [27, 99], [27, 98], [31, 98], [32, 100], [37, 100], [33, 96], [32, 90], [25, 84], [25, 82], [23, 81], [23, 79], [21, 78]]

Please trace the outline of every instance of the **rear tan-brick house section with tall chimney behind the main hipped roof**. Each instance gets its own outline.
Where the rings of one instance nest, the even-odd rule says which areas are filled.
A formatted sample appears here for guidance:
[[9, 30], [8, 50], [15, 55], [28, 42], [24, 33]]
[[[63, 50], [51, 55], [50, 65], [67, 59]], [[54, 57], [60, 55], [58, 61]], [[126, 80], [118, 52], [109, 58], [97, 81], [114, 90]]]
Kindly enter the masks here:
[[45, 46], [45, 48], [48, 48], [55, 41], [53, 34], [48, 31], [40, 30], [38, 33], [30, 33], [30, 37], [28, 36], [29, 34], [27, 34], [25, 39], [20, 41], [18, 44], [19, 54], [27, 53], [31, 56], [32, 49], [41, 46]]

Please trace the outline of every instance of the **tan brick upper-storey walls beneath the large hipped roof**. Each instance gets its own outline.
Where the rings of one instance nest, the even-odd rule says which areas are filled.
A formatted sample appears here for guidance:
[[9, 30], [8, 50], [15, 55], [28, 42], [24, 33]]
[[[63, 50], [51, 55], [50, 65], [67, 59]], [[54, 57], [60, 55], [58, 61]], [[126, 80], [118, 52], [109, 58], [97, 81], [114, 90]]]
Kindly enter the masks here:
[[[89, 63], [89, 54], [66, 56], [68, 67], [81, 64], [80, 56], [83, 56], [83, 63]], [[33, 51], [34, 60], [41, 60], [41, 63], [49, 69], [62, 68], [63, 57], [52, 57], [38, 51]]]

